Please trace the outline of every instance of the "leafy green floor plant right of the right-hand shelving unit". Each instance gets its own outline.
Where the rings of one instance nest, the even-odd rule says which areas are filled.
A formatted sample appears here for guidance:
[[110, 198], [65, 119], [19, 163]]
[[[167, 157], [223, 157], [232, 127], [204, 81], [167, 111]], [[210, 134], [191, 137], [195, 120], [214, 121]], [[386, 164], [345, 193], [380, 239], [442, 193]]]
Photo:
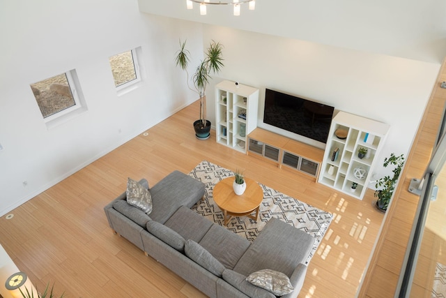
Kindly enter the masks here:
[[404, 156], [403, 154], [396, 156], [395, 154], [390, 154], [389, 158], [384, 159], [383, 166], [387, 167], [387, 165], [394, 165], [394, 169], [392, 170], [393, 176], [387, 175], [378, 181], [376, 181], [375, 187], [375, 197], [378, 198], [376, 201], [376, 206], [378, 209], [385, 211], [389, 206], [390, 199], [392, 198], [392, 194], [394, 192], [395, 186], [397, 185], [399, 175], [401, 174], [401, 170], [404, 165]]

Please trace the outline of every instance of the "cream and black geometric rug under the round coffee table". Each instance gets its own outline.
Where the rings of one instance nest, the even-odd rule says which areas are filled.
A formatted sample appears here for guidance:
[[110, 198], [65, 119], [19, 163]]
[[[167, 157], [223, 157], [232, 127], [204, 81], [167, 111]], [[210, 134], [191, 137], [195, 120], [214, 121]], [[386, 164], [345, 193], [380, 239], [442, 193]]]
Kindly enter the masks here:
[[[222, 179], [233, 177], [233, 172], [208, 161], [202, 161], [197, 167], [194, 167], [189, 175], [203, 182], [206, 186], [206, 200], [200, 200], [192, 209], [210, 221], [224, 226], [223, 212], [213, 200], [213, 188]], [[307, 262], [309, 262], [328, 230], [332, 221], [332, 214], [300, 202], [295, 198], [284, 195], [284, 193], [279, 193], [263, 184], [259, 183], [259, 186], [263, 190], [263, 201], [260, 204], [258, 221], [254, 221], [247, 216], [234, 216], [225, 228], [249, 241], [254, 241], [270, 218], [278, 218], [316, 238], [312, 252], [307, 259]]]

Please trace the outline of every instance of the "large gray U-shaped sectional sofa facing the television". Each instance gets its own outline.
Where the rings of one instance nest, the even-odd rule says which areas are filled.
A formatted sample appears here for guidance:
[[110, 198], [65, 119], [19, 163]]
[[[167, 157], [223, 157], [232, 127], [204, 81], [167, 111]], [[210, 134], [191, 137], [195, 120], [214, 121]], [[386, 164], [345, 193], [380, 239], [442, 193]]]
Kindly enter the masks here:
[[[139, 183], [148, 188], [146, 179]], [[178, 171], [148, 189], [153, 202], [149, 215], [128, 204], [125, 192], [105, 207], [110, 227], [146, 255], [209, 297], [276, 297], [246, 281], [261, 269], [286, 274], [294, 290], [282, 297], [298, 296], [312, 236], [271, 218], [251, 243], [192, 211], [204, 195], [204, 184]]]

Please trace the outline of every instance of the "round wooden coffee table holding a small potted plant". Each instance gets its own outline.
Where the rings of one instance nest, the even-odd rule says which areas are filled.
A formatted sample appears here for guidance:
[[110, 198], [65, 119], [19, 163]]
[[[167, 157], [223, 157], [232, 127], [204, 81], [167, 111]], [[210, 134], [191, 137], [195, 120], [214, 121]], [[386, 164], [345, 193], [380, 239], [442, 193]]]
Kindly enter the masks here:
[[[218, 182], [214, 187], [213, 197], [223, 211], [224, 225], [231, 220], [233, 216], [248, 216], [257, 221], [259, 218], [260, 203], [263, 200], [262, 188], [256, 181], [246, 178], [246, 191], [243, 195], [234, 193], [232, 184], [234, 177], [228, 177]], [[256, 215], [252, 215], [252, 211], [256, 211]]]

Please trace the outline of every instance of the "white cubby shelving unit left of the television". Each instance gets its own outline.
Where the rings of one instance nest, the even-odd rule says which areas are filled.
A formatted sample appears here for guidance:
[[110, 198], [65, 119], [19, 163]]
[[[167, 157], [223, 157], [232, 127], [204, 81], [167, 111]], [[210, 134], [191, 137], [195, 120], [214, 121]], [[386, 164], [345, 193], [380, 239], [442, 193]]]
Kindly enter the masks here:
[[[247, 135], [257, 127], [259, 89], [222, 81], [215, 86], [215, 101], [217, 142], [246, 152]], [[243, 110], [246, 112], [245, 119], [239, 117]]]

